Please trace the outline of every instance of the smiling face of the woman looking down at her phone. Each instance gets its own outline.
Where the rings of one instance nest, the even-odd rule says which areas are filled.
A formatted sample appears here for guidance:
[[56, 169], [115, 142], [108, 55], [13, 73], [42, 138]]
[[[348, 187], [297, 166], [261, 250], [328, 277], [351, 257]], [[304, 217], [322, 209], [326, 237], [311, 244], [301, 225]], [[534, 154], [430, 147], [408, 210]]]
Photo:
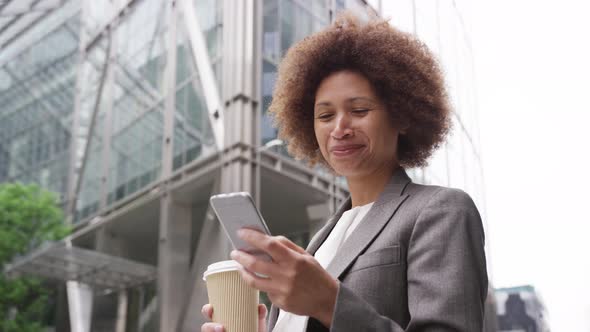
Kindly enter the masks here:
[[314, 130], [324, 159], [349, 179], [398, 165], [398, 130], [370, 82], [357, 72], [338, 71], [322, 80]]

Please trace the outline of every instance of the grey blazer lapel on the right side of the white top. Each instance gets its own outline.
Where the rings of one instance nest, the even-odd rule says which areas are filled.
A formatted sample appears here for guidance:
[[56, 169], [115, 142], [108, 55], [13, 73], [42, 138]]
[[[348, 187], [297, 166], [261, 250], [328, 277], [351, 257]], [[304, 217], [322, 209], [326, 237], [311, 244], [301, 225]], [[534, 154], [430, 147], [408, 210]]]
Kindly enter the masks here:
[[402, 168], [396, 170], [375, 204], [373, 204], [356, 230], [338, 249], [338, 255], [334, 256], [334, 259], [326, 268], [330, 275], [339, 278], [342, 272], [387, 225], [391, 216], [408, 197], [407, 194], [403, 194], [403, 190], [409, 182], [410, 178]]

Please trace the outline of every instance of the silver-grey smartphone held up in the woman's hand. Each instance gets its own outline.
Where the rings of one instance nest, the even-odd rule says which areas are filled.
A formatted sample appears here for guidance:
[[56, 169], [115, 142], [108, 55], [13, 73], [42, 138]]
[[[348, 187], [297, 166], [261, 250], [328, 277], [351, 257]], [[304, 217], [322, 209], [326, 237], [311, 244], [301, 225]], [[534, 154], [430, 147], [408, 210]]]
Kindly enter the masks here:
[[209, 199], [209, 203], [234, 249], [245, 251], [266, 261], [272, 261], [267, 253], [250, 246], [238, 237], [240, 228], [250, 228], [270, 235], [270, 231], [249, 193], [214, 195]]

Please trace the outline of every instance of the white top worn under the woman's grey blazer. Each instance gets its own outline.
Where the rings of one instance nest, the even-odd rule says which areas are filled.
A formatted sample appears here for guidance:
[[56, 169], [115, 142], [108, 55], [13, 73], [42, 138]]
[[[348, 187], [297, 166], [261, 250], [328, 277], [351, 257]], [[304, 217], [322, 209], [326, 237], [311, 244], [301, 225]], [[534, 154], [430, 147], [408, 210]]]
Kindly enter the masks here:
[[[374, 203], [374, 202], [373, 202]], [[354, 229], [358, 226], [361, 220], [365, 217], [373, 203], [363, 206], [354, 207], [345, 211], [336, 223], [326, 241], [315, 252], [314, 257], [325, 269], [328, 267], [338, 248], [350, 236]], [[305, 332], [307, 326], [308, 316], [299, 316], [286, 312], [279, 311], [279, 318], [275, 324], [273, 332]]]

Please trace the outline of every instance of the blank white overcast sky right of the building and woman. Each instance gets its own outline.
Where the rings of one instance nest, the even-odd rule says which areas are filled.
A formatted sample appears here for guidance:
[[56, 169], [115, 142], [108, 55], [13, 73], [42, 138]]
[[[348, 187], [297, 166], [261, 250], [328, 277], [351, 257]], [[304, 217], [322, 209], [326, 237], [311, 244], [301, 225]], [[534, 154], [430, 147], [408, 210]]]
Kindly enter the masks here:
[[491, 281], [534, 286], [553, 332], [590, 332], [585, 3], [457, 0], [474, 48]]

